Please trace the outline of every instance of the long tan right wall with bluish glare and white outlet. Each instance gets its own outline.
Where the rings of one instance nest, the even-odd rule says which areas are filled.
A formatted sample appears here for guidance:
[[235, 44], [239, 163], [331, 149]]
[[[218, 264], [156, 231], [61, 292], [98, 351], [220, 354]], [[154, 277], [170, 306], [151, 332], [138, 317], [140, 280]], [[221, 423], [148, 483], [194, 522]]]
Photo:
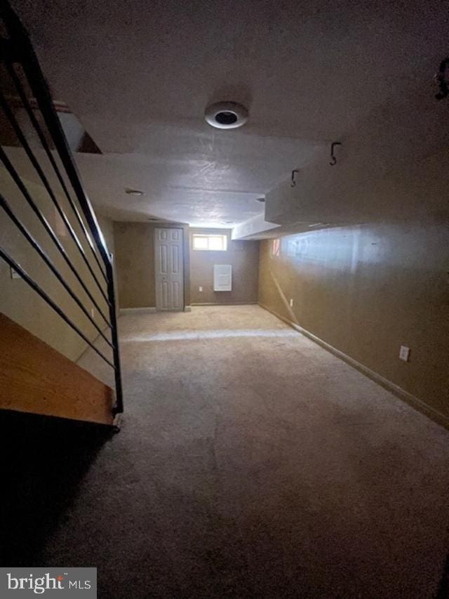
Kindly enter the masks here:
[[[261, 242], [259, 301], [449, 416], [449, 230], [363, 225]], [[293, 308], [288, 303], [293, 298]], [[410, 362], [398, 358], [400, 345]]]

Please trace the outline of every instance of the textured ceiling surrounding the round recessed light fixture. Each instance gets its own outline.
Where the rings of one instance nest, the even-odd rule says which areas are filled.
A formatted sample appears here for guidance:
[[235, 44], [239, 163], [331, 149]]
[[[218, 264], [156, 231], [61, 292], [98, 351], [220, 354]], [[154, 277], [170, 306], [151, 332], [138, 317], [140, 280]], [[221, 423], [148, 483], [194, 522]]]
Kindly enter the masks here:
[[[448, 51], [448, 11], [432, 1], [13, 5], [54, 96], [103, 152], [77, 162], [95, 206], [116, 219], [222, 226], [257, 215], [256, 197]], [[212, 129], [203, 112], [217, 100], [245, 104], [248, 123]]]

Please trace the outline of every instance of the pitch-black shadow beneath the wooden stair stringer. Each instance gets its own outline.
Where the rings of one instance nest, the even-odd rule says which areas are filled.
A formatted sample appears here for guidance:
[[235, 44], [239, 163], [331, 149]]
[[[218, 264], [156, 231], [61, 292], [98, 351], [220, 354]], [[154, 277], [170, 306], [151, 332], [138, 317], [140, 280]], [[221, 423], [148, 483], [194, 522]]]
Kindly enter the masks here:
[[111, 435], [106, 426], [0, 412], [0, 562], [41, 566], [76, 488]]

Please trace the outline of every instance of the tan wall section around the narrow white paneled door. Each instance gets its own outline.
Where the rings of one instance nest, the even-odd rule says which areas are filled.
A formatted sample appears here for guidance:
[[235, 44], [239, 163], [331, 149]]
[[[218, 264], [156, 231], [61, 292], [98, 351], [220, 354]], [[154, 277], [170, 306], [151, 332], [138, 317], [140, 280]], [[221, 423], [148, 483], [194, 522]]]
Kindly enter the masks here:
[[189, 235], [187, 225], [174, 223], [114, 223], [115, 265], [120, 308], [154, 308], [154, 229], [177, 227], [184, 231], [184, 297], [190, 305]]

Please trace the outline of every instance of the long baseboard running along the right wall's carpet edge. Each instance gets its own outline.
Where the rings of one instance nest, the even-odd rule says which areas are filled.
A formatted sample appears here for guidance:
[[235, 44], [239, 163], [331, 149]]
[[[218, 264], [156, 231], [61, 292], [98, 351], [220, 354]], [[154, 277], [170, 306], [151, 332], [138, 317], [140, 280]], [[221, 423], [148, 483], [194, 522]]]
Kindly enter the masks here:
[[396, 397], [399, 397], [401, 400], [408, 403], [411, 407], [417, 409], [417, 411], [421, 412], [421, 414], [425, 414], [425, 416], [428, 416], [434, 422], [441, 424], [441, 426], [444, 426], [445, 428], [449, 429], [448, 416], [445, 416], [444, 414], [439, 412], [437, 409], [429, 406], [428, 404], [426, 404], [425, 402], [420, 400], [419, 397], [416, 397], [416, 395], [409, 393], [402, 387], [399, 387], [398, 385], [396, 385], [396, 383], [392, 383], [388, 379], [385, 379], [384, 376], [382, 376], [381, 374], [378, 374], [374, 370], [371, 370], [364, 364], [361, 364], [361, 362], [357, 362], [357, 360], [354, 360], [353, 357], [343, 353], [340, 350], [337, 350], [337, 348], [334, 348], [333, 345], [330, 345], [326, 341], [323, 341], [323, 339], [320, 339], [319, 337], [317, 337], [310, 331], [303, 329], [302, 327], [300, 327], [299, 324], [295, 324], [295, 322], [292, 322], [291, 320], [288, 320], [288, 318], [281, 316], [280, 314], [278, 314], [278, 312], [275, 312], [271, 308], [268, 308], [267, 305], [264, 305], [263, 303], [260, 303], [260, 302], [259, 302], [259, 305], [261, 308], [263, 308], [264, 310], [267, 310], [267, 312], [270, 312], [272, 315], [276, 316], [276, 318], [279, 318], [279, 320], [282, 320], [283, 322], [288, 324], [290, 327], [295, 329], [295, 331], [298, 331], [298, 333], [311, 339], [311, 341], [314, 341], [318, 345], [321, 345], [322, 348], [324, 348], [325, 350], [328, 350], [328, 352], [339, 357], [340, 360], [343, 360], [344, 362], [349, 364], [349, 366], [354, 367], [356, 370], [358, 370], [362, 374], [365, 374], [366, 376], [368, 376], [368, 379], [371, 379], [372, 381], [374, 381], [375, 383], [377, 383], [384, 389], [387, 389], [388, 391], [391, 391], [391, 393], [394, 393], [394, 395], [396, 395]]

